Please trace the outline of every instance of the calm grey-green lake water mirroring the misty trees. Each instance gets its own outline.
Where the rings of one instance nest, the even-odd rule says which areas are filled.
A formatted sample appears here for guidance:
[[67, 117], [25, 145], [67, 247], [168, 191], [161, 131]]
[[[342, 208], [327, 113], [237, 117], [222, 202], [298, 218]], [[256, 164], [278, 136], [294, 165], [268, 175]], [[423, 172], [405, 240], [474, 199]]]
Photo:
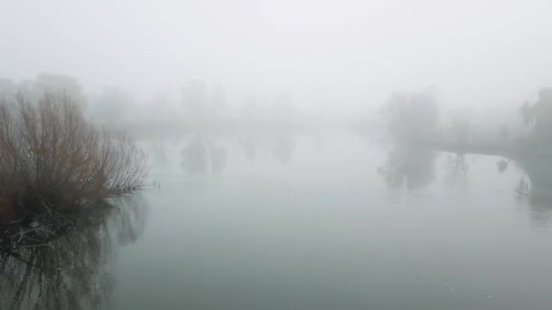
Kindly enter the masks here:
[[347, 133], [161, 145], [155, 186], [43, 255], [63, 270], [12, 262], [2, 309], [552, 308], [552, 208], [515, 163]]

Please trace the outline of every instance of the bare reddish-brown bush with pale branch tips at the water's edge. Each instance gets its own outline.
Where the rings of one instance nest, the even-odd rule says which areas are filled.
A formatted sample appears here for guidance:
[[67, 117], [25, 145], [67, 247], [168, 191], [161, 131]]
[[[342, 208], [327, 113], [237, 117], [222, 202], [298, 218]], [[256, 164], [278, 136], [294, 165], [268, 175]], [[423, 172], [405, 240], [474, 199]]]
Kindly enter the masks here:
[[30, 225], [131, 193], [145, 167], [125, 134], [96, 129], [65, 92], [0, 101], [0, 224]]

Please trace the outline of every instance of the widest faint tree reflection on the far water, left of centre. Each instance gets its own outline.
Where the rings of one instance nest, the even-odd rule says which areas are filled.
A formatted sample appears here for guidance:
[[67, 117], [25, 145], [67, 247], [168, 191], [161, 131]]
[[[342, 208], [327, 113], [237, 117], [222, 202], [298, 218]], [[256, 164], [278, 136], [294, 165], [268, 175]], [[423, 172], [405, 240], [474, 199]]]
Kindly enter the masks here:
[[182, 148], [181, 167], [188, 173], [207, 173], [211, 170], [219, 173], [226, 164], [226, 149], [216, 145], [202, 132], [192, 135], [188, 144]]

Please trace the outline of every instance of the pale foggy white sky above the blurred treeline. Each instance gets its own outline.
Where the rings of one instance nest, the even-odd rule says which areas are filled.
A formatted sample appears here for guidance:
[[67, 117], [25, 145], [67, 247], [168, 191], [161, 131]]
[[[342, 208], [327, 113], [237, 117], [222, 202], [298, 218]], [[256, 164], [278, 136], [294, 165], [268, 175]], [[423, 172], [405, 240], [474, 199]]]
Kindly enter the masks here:
[[437, 86], [460, 105], [517, 103], [552, 86], [552, 1], [1, 0], [0, 75], [75, 76], [88, 92], [233, 101], [289, 91], [340, 111]]

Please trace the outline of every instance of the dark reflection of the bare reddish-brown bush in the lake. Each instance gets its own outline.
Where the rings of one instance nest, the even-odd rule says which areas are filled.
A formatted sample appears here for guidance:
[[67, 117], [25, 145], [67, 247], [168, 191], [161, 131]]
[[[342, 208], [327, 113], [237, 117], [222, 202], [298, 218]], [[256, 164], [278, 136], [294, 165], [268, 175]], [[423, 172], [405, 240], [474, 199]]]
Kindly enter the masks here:
[[[113, 207], [113, 208], [112, 208]], [[0, 251], [0, 309], [109, 309], [116, 247], [143, 232], [137, 197], [97, 207], [48, 245]], [[44, 228], [51, 229], [51, 228]]]

